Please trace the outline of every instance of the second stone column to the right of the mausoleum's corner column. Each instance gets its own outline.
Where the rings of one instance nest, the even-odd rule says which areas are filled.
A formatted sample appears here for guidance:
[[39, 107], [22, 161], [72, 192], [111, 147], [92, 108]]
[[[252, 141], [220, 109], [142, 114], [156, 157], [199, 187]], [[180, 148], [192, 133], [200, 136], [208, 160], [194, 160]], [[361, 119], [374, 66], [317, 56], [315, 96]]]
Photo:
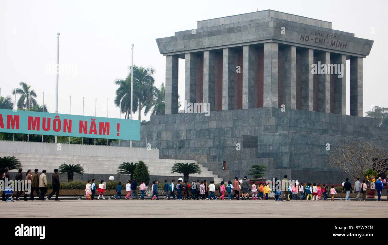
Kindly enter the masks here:
[[314, 63], [314, 50], [307, 48], [301, 51], [301, 110], [314, 111], [314, 75], [311, 74]]

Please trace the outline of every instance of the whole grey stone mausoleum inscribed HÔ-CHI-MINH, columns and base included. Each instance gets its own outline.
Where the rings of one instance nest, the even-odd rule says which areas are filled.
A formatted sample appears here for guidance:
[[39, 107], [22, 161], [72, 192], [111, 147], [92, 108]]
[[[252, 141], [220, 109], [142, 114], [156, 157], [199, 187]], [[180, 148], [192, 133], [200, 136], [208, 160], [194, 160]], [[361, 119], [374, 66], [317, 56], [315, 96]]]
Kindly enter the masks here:
[[[328, 167], [327, 144], [370, 140], [388, 148], [388, 131], [362, 117], [363, 58], [372, 40], [333, 30], [331, 22], [263, 10], [198, 21], [197, 29], [156, 43], [166, 56], [166, 115], [141, 126], [135, 147], [147, 141], [161, 158], [197, 160], [226, 181], [263, 164], [267, 179], [288, 174], [330, 184], [346, 176]], [[177, 71], [178, 59], [185, 59], [185, 100], [222, 104], [222, 110], [211, 108], [208, 117], [176, 114], [178, 78], [170, 71]], [[345, 71], [341, 78], [312, 74], [313, 64], [346, 67], [348, 59], [350, 88]], [[345, 115], [346, 89], [351, 116]]]

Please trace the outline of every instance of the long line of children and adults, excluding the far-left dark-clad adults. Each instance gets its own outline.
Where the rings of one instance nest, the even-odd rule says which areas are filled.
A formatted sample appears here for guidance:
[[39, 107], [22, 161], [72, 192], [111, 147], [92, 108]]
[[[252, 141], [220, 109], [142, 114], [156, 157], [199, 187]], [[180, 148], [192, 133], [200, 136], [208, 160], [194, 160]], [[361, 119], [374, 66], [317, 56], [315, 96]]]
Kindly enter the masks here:
[[[346, 182], [343, 185], [342, 192], [346, 192], [346, 198], [345, 201], [350, 201], [350, 191], [357, 192], [356, 201], [365, 201], [366, 197], [366, 190], [367, 190], [367, 184], [365, 183], [365, 180], [362, 181], [362, 183], [359, 181], [360, 178], [357, 178], [357, 181], [355, 182], [354, 190], [352, 188], [352, 185], [348, 181], [349, 179], [346, 178]], [[92, 182], [95, 180], [93, 179]], [[86, 195], [89, 199], [94, 200], [94, 195], [92, 194], [91, 198], [90, 195], [90, 186], [88, 187], [90, 181], [88, 181], [87, 188], [85, 189]], [[101, 183], [103, 180], [101, 180]], [[217, 198], [220, 200], [225, 200], [225, 194], [227, 193], [227, 199], [228, 200], [270, 200], [270, 193], [274, 193], [272, 196], [274, 200], [276, 201], [283, 201], [283, 200], [328, 200], [328, 194], [331, 195], [331, 200], [334, 201], [334, 197], [337, 194], [336, 189], [334, 186], [327, 186], [326, 184], [319, 184], [319, 183], [307, 183], [307, 185], [304, 185], [303, 183], [297, 183], [297, 182], [291, 182], [287, 179], [287, 175], [284, 176], [284, 179], [282, 179], [281, 183], [282, 185], [288, 185], [288, 187], [282, 188], [282, 185], [279, 185], [278, 187], [276, 185], [270, 187], [268, 183], [265, 184], [258, 184], [252, 183], [249, 184], [249, 179], [247, 176], [244, 176], [242, 180], [238, 180], [236, 177], [233, 181], [228, 181], [227, 185], [225, 185], [225, 182], [222, 181], [220, 183], [220, 186], [217, 188], [218, 192], [220, 193], [219, 197], [216, 197], [216, 187], [214, 184], [214, 181], [210, 181], [209, 184], [206, 181], [206, 179], [199, 181], [197, 179], [196, 182], [192, 182], [191, 184], [188, 183], [187, 180], [179, 179], [177, 183], [175, 183], [175, 180], [172, 179], [170, 183], [165, 179], [163, 185], [163, 190], [165, 192], [164, 200], [216, 200]], [[275, 183], [277, 182], [277, 179], [275, 179]], [[158, 180], [152, 181], [151, 186], [151, 200], [160, 200], [158, 195]], [[376, 182], [376, 185], [379, 183]], [[100, 184], [99, 188], [103, 188], [104, 186]], [[381, 188], [384, 188], [381, 182]], [[381, 190], [377, 189], [377, 190]], [[282, 191], [279, 191], [278, 189], [282, 189]], [[142, 181], [140, 184], [140, 191], [141, 191], [141, 197], [140, 199], [144, 199], [145, 196], [145, 181]], [[93, 190], [92, 190], [93, 192]], [[104, 190], [102, 191], [104, 192]], [[99, 194], [102, 195], [102, 192], [99, 191]], [[138, 200], [139, 197], [137, 195], [137, 182], [136, 179], [131, 183], [131, 181], [128, 180], [128, 183], [126, 184], [126, 200]], [[175, 196], [175, 192], [177, 195]], [[121, 182], [118, 183], [118, 186], [116, 188], [116, 196], [114, 199], [117, 199], [121, 197]], [[132, 195], [131, 195], [132, 193]], [[361, 198], [361, 194], [362, 198]], [[298, 196], [299, 195], [299, 196]], [[381, 191], [379, 194], [379, 197], [381, 196]], [[100, 196], [99, 196], [100, 197]], [[251, 198], [251, 199], [250, 199]], [[99, 199], [99, 198], [97, 198]], [[341, 198], [342, 199], [342, 198]], [[379, 198], [380, 200], [380, 198]]]

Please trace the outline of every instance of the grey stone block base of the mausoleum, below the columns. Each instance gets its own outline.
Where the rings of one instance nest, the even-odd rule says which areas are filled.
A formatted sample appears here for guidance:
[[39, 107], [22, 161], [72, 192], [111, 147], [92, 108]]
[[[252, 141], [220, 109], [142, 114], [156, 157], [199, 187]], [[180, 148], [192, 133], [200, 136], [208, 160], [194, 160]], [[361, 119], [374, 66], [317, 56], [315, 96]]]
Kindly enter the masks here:
[[333, 149], [345, 141], [369, 140], [388, 149], [388, 130], [379, 128], [377, 119], [281, 108], [152, 116], [140, 135], [132, 141], [135, 147], [145, 147], [147, 138], [160, 158], [197, 160], [224, 180], [263, 164], [267, 179], [288, 174], [302, 182], [338, 184], [346, 175], [328, 167], [327, 143]]

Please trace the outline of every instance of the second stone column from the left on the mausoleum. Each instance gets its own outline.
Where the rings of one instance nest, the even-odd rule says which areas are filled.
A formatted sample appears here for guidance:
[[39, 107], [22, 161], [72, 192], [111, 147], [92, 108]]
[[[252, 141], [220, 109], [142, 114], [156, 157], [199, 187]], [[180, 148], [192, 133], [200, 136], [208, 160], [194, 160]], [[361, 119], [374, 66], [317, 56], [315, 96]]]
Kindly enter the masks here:
[[197, 99], [197, 55], [185, 53], [185, 100], [194, 103]]

